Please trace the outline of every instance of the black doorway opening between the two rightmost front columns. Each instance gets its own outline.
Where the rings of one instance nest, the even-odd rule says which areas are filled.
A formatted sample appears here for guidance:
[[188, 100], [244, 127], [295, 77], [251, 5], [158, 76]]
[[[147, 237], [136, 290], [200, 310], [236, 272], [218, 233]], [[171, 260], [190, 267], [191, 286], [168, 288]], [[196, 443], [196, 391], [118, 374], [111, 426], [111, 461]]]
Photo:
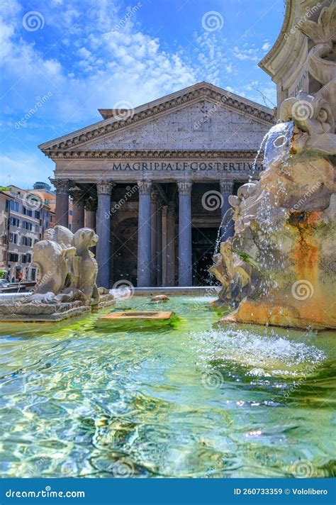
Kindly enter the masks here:
[[218, 228], [193, 228], [193, 285], [213, 285], [213, 276], [208, 268], [213, 264], [213, 252]]

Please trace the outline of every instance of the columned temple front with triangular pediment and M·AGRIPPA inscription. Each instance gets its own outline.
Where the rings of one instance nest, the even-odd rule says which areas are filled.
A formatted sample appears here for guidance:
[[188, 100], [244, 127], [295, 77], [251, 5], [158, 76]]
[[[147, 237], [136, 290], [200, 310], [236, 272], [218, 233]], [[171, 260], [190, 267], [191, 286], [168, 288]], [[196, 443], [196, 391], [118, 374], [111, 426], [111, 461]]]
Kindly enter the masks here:
[[[55, 161], [56, 221], [99, 235], [98, 284], [206, 284], [218, 228], [232, 233], [228, 197], [262, 163], [270, 109], [206, 82], [135, 109], [99, 109], [102, 121], [39, 148]], [[224, 226], [225, 223], [225, 226]]]

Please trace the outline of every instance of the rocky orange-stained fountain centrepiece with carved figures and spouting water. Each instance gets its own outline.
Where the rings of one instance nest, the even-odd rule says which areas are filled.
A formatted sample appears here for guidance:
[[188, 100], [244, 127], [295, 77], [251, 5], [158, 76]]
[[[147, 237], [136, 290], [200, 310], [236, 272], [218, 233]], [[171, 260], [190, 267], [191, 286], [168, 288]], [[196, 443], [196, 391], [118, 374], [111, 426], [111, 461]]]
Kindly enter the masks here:
[[226, 322], [336, 328], [335, 2], [298, 27], [319, 89], [282, 102], [264, 138], [266, 170], [230, 197], [235, 233], [209, 270], [220, 303], [237, 307]]

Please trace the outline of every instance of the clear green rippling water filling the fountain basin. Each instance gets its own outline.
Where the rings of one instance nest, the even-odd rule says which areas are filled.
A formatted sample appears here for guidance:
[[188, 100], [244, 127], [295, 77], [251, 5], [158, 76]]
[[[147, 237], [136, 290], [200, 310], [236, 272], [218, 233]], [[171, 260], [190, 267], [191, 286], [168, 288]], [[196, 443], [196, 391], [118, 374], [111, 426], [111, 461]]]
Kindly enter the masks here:
[[[209, 300], [1, 325], [1, 477], [335, 475], [335, 333], [219, 328]], [[126, 309], [179, 319], [96, 326]]]

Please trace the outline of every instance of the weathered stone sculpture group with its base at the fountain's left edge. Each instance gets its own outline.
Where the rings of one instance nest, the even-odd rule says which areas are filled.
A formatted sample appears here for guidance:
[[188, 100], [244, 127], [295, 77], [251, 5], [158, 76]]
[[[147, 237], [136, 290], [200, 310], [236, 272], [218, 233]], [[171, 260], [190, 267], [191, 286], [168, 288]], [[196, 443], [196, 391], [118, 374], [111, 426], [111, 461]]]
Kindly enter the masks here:
[[33, 248], [40, 280], [29, 296], [0, 302], [0, 320], [61, 321], [113, 304], [113, 295], [96, 286], [98, 266], [90, 248], [97, 241], [91, 228], [48, 228]]

